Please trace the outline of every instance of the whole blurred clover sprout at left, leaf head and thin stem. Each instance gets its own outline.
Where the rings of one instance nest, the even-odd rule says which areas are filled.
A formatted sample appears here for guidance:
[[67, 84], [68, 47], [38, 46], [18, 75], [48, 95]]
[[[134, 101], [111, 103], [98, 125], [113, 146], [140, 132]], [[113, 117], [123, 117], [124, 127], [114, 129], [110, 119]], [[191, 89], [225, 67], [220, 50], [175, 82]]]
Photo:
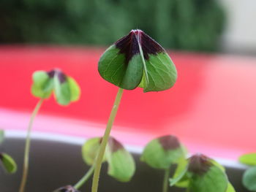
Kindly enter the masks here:
[[39, 101], [31, 114], [29, 127], [26, 136], [26, 145], [23, 162], [23, 175], [20, 183], [19, 192], [25, 191], [26, 180], [29, 172], [29, 150], [30, 150], [30, 135], [34, 118], [37, 115], [43, 101], [48, 99], [52, 93], [56, 102], [60, 105], [67, 105], [72, 101], [78, 101], [80, 97], [80, 88], [77, 82], [72, 77], [67, 76], [61, 70], [54, 69], [50, 72], [37, 71], [33, 74], [33, 85], [31, 93], [39, 98]]

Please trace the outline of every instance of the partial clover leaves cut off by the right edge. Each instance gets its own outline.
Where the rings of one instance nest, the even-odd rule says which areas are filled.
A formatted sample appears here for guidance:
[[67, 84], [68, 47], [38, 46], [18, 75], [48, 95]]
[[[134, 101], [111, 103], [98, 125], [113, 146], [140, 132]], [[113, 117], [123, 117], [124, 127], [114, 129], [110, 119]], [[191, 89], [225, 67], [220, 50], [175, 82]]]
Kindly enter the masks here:
[[249, 191], [256, 191], [256, 153], [241, 155], [239, 161], [242, 164], [252, 166], [244, 172], [243, 185]]

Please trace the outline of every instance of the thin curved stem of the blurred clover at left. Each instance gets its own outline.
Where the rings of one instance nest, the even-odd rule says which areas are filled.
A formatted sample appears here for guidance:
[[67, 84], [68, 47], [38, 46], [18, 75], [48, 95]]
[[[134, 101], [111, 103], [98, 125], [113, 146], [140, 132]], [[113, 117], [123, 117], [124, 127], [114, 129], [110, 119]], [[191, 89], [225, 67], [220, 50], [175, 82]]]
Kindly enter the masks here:
[[29, 127], [26, 134], [26, 145], [25, 145], [25, 152], [24, 152], [24, 162], [23, 162], [23, 175], [20, 183], [20, 189], [19, 192], [25, 191], [26, 186], [26, 180], [29, 173], [29, 150], [30, 150], [30, 135], [31, 135], [31, 129], [33, 126], [34, 118], [37, 115], [37, 112], [39, 111], [40, 107], [42, 106], [43, 99], [40, 99], [34, 107], [34, 111], [32, 112], [31, 118], [29, 120]]

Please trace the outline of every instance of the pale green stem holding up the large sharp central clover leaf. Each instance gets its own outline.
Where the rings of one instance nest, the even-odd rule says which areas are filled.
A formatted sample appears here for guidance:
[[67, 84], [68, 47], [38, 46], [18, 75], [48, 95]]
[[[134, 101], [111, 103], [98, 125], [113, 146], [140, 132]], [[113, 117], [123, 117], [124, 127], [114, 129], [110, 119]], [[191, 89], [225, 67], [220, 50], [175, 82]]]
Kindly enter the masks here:
[[107, 143], [108, 143], [108, 138], [110, 136], [110, 131], [111, 131], [111, 128], [113, 126], [113, 122], [116, 118], [116, 112], [118, 110], [118, 106], [119, 106], [120, 101], [121, 101], [122, 93], [123, 93], [123, 89], [119, 88], [118, 92], [116, 94], [116, 100], [115, 100], [115, 102], [113, 104], [113, 108], [110, 112], [110, 117], [108, 119], [108, 124], [107, 124], [107, 127], [105, 129], [105, 134], [102, 138], [102, 143], [99, 147], [99, 153], [97, 155], [97, 159], [96, 159], [96, 163], [95, 163], [95, 170], [94, 170], [94, 177], [93, 177], [93, 180], [92, 180], [91, 192], [97, 192], [97, 190], [98, 190], [99, 173], [100, 173], [100, 169], [102, 167], [102, 160], [103, 160], [103, 157], [104, 157], [105, 148], [106, 148]]

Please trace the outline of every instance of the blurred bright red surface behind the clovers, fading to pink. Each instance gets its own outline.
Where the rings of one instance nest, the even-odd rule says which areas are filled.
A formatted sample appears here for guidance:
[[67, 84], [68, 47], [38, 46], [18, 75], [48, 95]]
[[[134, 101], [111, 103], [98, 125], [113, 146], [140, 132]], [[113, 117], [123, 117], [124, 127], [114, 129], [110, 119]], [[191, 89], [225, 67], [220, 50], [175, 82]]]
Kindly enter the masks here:
[[[0, 47], [0, 114], [5, 114], [0, 126], [15, 130], [16, 123], [25, 130], [27, 125], [14, 123], [15, 116], [8, 112], [31, 112], [38, 100], [30, 93], [31, 74], [60, 68], [80, 84], [80, 101], [60, 107], [51, 98], [39, 114], [90, 121], [104, 128], [118, 88], [97, 72], [103, 51], [86, 47]], [[126, 140], [136, 145], [163, 134], [175, 134], [193, 152], [214, 149], [211, 154], [236, 158], [239, 153], [255, 151], [256, 58], [170, 55], [178, 70], [176, 85], [155, 93], [143, 93], [140, 88], [124, 91], [113, 129], [132, 133], [133, 138]], [[6, 124], [8, 120], [12, 126]], [[74, 125], [63, 132], [57, 125], [50, 131], [83, 136], [86, 130], [75, 129]]]

